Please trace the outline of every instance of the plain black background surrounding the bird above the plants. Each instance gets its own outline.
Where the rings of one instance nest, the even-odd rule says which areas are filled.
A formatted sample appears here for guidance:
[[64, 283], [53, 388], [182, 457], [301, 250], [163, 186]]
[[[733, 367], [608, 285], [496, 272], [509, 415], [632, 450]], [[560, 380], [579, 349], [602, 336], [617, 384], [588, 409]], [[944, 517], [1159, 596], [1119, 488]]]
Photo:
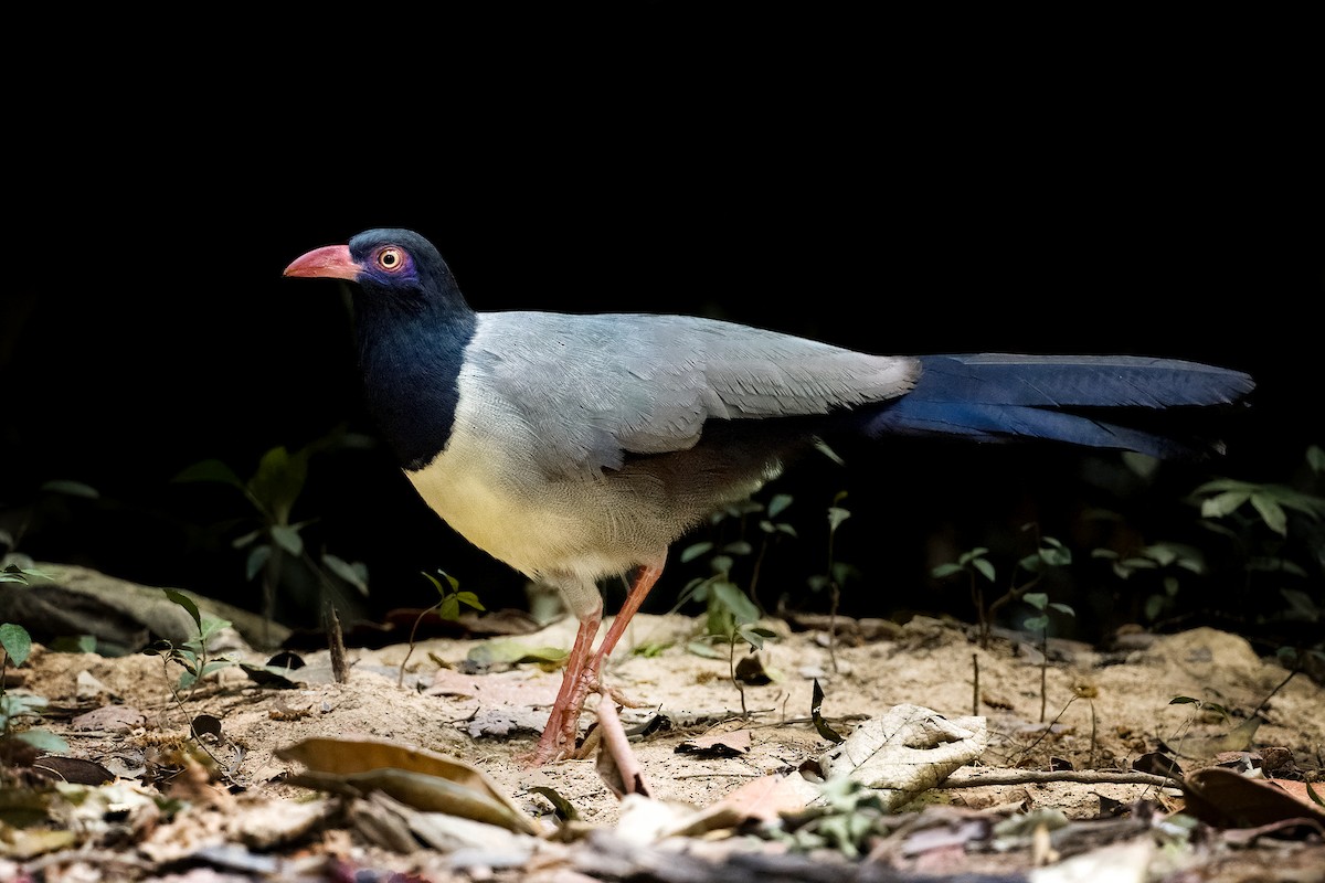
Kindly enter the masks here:
[[[1228, 457], [1165, 471], [1165, 499], [1211, 474], [1287, 481], [1325, 441], [1318, 103], [1292, 23], [507, 15], [261, 40], [231, 21], [13, 71], [0, 506], [20, 551], [256, 606], [237, 531], [212, 530], [244, 502], [171, 478], [372, 432], [343, 291], [281, 277], [370, 226], [429, 237], [480, 310], [702, 312], [874, 352], [1253, 373]], [[897, 442], [851, 463], [779, 486], [802, 537], [766, 600], [804, 593], [839, 490], [839, 557], [868, 575], [848, 606], [880, 616], [969, 614], [928, 581], [935, 555], [1027, 520], [1068, 534], [1084, 503], [1118, 503], [1079, 451]], [[42, 494], [50, 479], [101, 499]], [[1186, 530], [1122, 492], [1147, 539]], [[376, 610], [428, 604], [419, 572], [437, 568], [519, 602], [518, 577], [380, 450], [315, 459], [297, 516], [370, 567]], [[700, 572], [673, 564], [655, 606]]]

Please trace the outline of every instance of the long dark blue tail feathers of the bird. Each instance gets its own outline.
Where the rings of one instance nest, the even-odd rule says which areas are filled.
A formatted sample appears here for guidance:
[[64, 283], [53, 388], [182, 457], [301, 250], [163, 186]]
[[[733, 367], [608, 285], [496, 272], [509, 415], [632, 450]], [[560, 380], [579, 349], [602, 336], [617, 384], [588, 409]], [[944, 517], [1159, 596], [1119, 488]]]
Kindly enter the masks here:
[[1047, 438], [1194, 455], [1220, 446], [1183, 428], [1182, 412], [1236, 402], [1255, 385], [1238, 371], [1137, 356], [949, 355], [921, 363], [916, 388], [874, 413], [868, 434]]

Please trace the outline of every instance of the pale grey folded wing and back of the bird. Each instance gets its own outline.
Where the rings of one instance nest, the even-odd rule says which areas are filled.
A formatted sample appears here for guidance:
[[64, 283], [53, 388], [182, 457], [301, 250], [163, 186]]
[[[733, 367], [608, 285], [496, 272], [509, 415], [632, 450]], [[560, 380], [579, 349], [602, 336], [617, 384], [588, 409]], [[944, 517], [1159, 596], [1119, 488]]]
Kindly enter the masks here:
[[910, 389], [920, 363], [693, 316], [480, 314], [466, 371], [546, 474], [693, 447], [710, 418], [824, 414]]

